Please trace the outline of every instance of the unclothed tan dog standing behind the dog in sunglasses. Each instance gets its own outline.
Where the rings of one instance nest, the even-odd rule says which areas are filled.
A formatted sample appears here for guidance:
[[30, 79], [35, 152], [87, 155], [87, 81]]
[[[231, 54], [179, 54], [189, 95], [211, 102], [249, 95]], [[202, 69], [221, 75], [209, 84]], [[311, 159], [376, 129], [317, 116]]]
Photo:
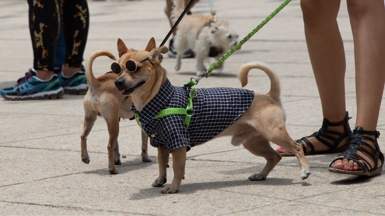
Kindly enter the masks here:
[[[134, 117], [134, 113], [129, 111], [131, 106], [131, 98], [119, 94], [116, 90], [114, 81], [119, 77], [114, 73], [106, 73], [95, 78], [92, 73], [92, 63], [99, 56], [108, 56], [112, 60], [116, 60], [115, 56], [105, 50], [99, 50], [92, 53], [87, 61], [86, 76], [89, 84], [87, 94], [84, 96], [84, 127], [81, 138], [82, 161], [86, 164], [90, 163], [90, 157], [87, 152], [87, 136], [96, 121], [97, 116], [103, 116], [108, 126], [110, 135], [107, 145], [108, 149], [108, 169], [111, 174], [117, 174], [116, 165], [121, 164], [119, 154], [119, 117], [128, 119]], [[150, 162], [151, 159], [147, 153], [148, 137], [142, 132], [142, 161]]]

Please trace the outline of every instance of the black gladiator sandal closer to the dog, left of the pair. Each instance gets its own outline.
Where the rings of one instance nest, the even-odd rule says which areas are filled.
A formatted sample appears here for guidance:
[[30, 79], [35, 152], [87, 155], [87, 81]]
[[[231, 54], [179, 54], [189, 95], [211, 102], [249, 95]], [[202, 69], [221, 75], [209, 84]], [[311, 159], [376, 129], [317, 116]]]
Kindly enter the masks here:
[[[350, 130], [350, 126], [349, 126], [349, 119], [350, 118], [349, 118], [349, 113], [348, 112], [346, 112], [345, 120], [341, 121], [341, 122], [338, 122], [338, 123], [330, 123], [330, 121], [327, 118], [324, 118], [323, 121], [322, 121], [322, 126], [321, 126], [319, 131], [314, 132], [310, 136], [302, 137], [300, 140], [297, 140], [296, 142], [300, 143], [302, 145], [303, 153], [305, 155], [315, 155], [315, 154], [343, 152], [343, 151], [346, 150], [347, 143], [346, 143], [346, 145], [342, 145], [342, 146], [339, 146], [339, 147], [338, 147], [338, 145], [340, 145], [340, 143], [342, 142], [343, 139], [345, 139], [350, 134], [352, 134], [352, 130]], [[344, 133], [328, 130], [328, 126], [334, 127], [334, 126], [341, 126], [341, 125], [345, 125], [345, 132]], [[330, 136], [330, 135], [337, 135], [338, 138], [334, 138], [333, 136]], [[313, 144], [311, 144], [311, 142], [308, 140], [308, 138], [310, 138], [310, 137], [315, 137], [318, 141], [323, 143], [323, 145], [328, 146], [329, 149], [328, 150], [323, 150], [323, 151], [315, 151]], [[334, 143], [328, 143], [328, 141], [324, 140], [323, 138], [331, 140]], [[306, 151], [306, 147], [305, 147], [305, 145], [303, 144], [302, 141], [304, 141], [306, 144], [308, 144], [308, 146], [310, 146], [311, 151]], [[293, 153], [290, 153], [290, 154], [281, 153], [281, 155], [284, 156], [284, 157], [285, 156], [286, 157], [294, 156]]]

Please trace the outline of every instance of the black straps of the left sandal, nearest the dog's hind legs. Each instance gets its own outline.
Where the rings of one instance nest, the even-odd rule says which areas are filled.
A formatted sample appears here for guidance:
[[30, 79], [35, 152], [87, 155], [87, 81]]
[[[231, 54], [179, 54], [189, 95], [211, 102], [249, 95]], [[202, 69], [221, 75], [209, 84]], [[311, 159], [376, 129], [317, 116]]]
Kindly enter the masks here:
[[[301, 138], [300, 140], [296, 140], [296, 142], [300, 143], [302, 145], [303, 153], [305, 153], [305, 154], [306, 154], [306, 147], [304, 145], [304, 142], [308, 146], [310, 146], [310, 148], [311, 148], [310, 152], [315, 151], [313, 144], [311, 144], [311, 142], [308, 140], [308, 138], [310, 138], [310, 137], [316, 138], [318, 141], [320, 141], [323, 145], [327, 146], [329, 149], [335, 149], [338, 147], [338, 145], [340, 145], [340, 143], [343, 139], [345, 139], [346, 137], [348, 137], [352, 133], [352, 130], [350, 130], [350, 126], [349, 126], [349, 122], [348, 122], [349, 119], [350, 118], [349, 118], [348, 112], [346, 112], [345, 120], [341, 121], [341, 122], [331, 123], [327, 118], [324, 118], [322, 121], [322, 126], [321, 126], [320, 130], [314, 132], [310, 136], [305, 136], [305, 137]], [[335, 126], [341, 126], [341, 125], [346, 125], [344, 133], [341, 133], [338, 131], [328, 130], [328, 126], [335, 127]], [[336, 136], [338, 136], [338, 138], [335, 138], [335, 137], [330, 136], [330, 135], [336, 135]], [[329, 143], [325, 139], [331, 140], [333, 143]]]

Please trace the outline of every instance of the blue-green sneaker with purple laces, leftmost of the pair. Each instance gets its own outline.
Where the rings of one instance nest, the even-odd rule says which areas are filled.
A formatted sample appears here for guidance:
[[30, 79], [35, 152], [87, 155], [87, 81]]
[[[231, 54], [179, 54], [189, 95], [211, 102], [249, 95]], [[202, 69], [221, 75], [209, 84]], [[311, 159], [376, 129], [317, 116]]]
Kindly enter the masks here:
[[50, 80], [42, 80], [31, 68], [17, 85], [4, 88], [0, 94], [7, 100], [57, 99], [64, 95], [64, 90], [56, 74], [52, 75]]

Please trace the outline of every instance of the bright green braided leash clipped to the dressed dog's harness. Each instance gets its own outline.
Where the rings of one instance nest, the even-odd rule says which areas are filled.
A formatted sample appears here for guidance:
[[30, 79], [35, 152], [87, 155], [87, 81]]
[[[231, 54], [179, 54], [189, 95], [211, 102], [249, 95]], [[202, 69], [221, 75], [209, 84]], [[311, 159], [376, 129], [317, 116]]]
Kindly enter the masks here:
[[[187, 86], [196, 85], [203, 76], [206, 78], [210, 75], [211, 71], [213, 71], [216, 67], [218, 67], [226, 58], [228, 58], [231, 54], [233, 54], [239, 47], [241, 47], [246, 41], [248, 41], [255, 33], [259, 31], [266, 23], [268, 23], [278, 12], [282, 10], [291, 0], [285, 0], [277, 9], [273, 11], [266, 19], [264, 19], [257, 27], [253, 29], [246, 37], [244, 37], [240, 42], [238, 42], [233, 48], [231, 48], [227, 53], [225, 53], [218, 61], [216, 61], [213, 65], [203, 71], [203, 74], [199, 78], [191, 78], [191, 80], [186, 84]], [[195, 80], [194, 80], [195, 79]]]

